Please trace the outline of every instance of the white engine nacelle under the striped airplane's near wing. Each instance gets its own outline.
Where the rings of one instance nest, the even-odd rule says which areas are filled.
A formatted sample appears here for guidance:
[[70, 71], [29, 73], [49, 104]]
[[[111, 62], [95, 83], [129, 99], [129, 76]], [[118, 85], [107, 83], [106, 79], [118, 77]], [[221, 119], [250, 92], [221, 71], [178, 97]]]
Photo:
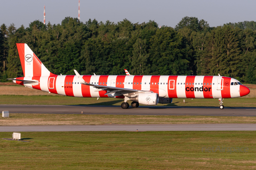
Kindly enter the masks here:
[[159, 96], [155, 92], [140, 94], [131, 98], [132, 101], [136, 101], [142, 105], [157, 105]]

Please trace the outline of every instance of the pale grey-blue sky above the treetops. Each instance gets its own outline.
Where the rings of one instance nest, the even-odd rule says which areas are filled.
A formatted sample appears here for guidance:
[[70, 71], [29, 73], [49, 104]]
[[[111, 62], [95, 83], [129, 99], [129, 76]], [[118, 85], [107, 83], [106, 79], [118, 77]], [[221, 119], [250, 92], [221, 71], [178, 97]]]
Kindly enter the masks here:
[[[61, 23], [66, 16], [78, 18], [78, 0], [5, 0], [1, 1], [0, 25], [11, 23], [28, 27], [35, 20], [46, 24]], [[256, 21], [255, 0], [81, 0], [80, 20], [96, 19], [117, 23], [123, 19], [132, 23], [155, 20], [158, 25], [175, 27], [185, 16], [197, 17], [217, 27], [229, 22]]]

